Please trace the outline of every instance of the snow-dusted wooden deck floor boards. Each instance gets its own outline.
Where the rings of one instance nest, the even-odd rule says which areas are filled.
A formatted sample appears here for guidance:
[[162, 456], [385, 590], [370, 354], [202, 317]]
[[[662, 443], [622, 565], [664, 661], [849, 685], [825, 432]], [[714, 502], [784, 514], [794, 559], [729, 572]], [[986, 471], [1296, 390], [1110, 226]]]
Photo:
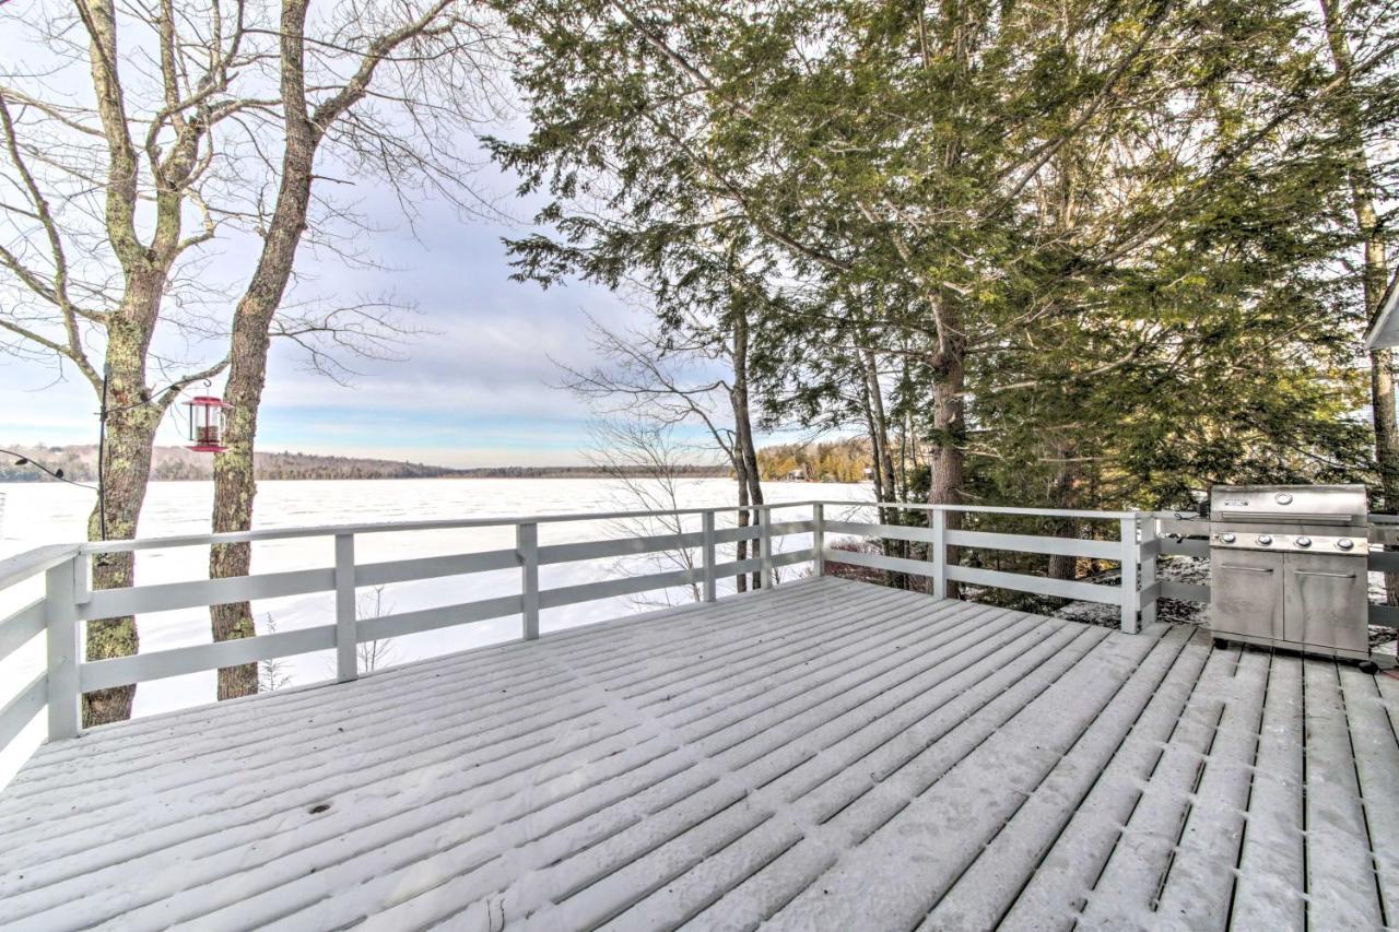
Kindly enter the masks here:
[[1374, 928], [1399, 682], [834, 578], [43, 747], [0, 926]]

